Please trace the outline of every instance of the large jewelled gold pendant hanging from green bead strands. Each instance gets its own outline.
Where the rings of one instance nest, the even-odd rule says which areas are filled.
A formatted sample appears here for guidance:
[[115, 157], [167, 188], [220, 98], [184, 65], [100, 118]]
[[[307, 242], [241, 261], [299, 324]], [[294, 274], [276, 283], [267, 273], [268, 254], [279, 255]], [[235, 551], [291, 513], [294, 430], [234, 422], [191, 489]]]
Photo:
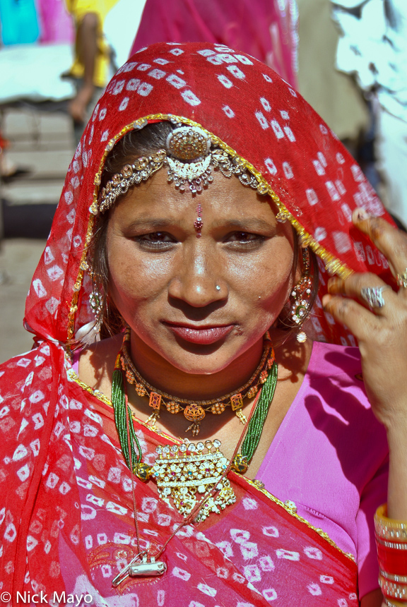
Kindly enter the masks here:
[[229, 461], [219, 450], [220, 440], [204, 443], [184, 442], [181, 445], [158, 445], [158, 458], [152, 469], [152, 478], [157, 481], [158, 495], [168, 505], [174, 505], [187, 517], [191, 510], [214, 487], [218, 493], [208, 498], [199, 510], [196, 521], [201, 522], [211, 512], [235, 503], [235, 492], [228, 478], [221, 478]]

